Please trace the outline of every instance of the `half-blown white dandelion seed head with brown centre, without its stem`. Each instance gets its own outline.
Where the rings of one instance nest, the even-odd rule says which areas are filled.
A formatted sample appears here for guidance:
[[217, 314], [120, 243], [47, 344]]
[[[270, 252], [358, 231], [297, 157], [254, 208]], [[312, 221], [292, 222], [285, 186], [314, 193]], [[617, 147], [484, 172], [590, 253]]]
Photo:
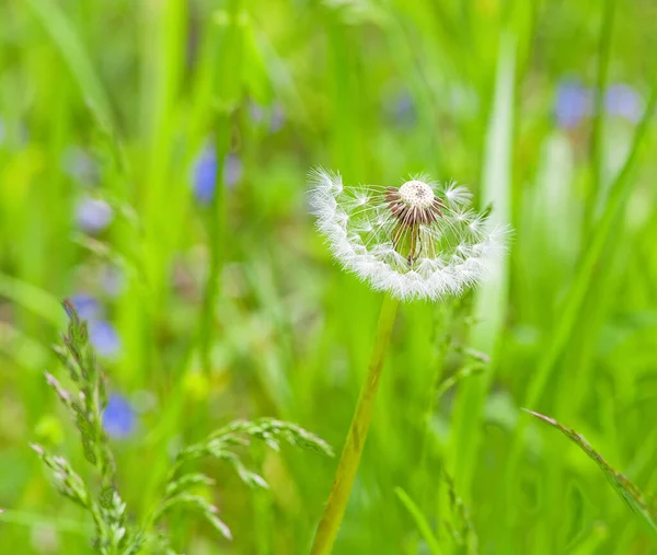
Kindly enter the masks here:
[[508, 228], [492, 228], [454, 183], [414, 176], [397, 187], [345, 186], [314, 170], [310, 207], [333, 256], [376, 290], [437, 300], [477, 284], [505, 253]]

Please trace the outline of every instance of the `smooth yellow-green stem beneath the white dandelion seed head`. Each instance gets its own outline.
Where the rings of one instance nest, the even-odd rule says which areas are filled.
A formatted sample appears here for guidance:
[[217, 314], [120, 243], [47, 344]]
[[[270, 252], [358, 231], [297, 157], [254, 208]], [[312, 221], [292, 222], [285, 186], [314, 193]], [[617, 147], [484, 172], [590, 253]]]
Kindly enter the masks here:
[[372, 418], [381, 370], [383, 369], [383, 361], [385, 360], [385, 352], [392, 326], [394, 325], [397, 305], [399, 301], [389, 296], [384, 297], [367, 377], [360, 390], [349, 433], [347, 435], [347, 440], [339, 458], [333, 488], [326, 501], [326, 507], [324, 507], [322, 520], [320, 520], [320, 524], [318, 525], [311, 555], [328, 555], [333, 550], [333, 543], [335, 542], [335, 536], [347, 508], [349, 494], [356, 478], [367, 431]]

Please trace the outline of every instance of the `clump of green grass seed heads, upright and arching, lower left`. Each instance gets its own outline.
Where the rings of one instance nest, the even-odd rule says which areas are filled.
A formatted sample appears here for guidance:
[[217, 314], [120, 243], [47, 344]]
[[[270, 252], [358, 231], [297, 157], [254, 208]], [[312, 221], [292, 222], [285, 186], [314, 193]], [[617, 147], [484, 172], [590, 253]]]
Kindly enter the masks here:
[[215, 482], [205, 474], [184, 472], [182, 469], [189, 462], [208, 456], [227, 461], [246, 485], [266, 488], [265, 479], [246, 469], [234, 450], [237, 447], [249, 446], [250, 440], [255, 439], [278, 451], [280, 442], [285, 441], [325, 455], [333, 454], [325, 441], [293, 424], [272, 418], [233, 421], [210, 433], [205, 441], [182, 449], [171, 464], [157, 508], [146, 518], [145, 524], [129, 524], [126, 504], [116, 485], [116, 465], [108, 435], [103, 428], [103, 413], [107, 408], [106, 379], [90, 344], [88, 323], [80, 319], [70, 301], [65, 302], [65, 308], [69, 315], [68, 333], [62, 337], [64, 347], [56, 346], [54, 350], [68, 370], [76, 393], [67, 391], [47, 372], [46, 381], [74, 419], [84, 458], [95, 466], [100, 485], [88, 485], [62, 456], [54, 456], [35, 443], [31, 447], [51, 471], [59, 494], [82, 507], [93, 519], [93, 545], [97, 553], [132, 555], [142, 553], [149, 545], [173, 553], [166, 534], [154, 527], [168, 512], [177, 508], [198, 513], [226, 539], [232, 540], [230, 529], [217, 516], [217, 507], [206, 497], [195, 494]]

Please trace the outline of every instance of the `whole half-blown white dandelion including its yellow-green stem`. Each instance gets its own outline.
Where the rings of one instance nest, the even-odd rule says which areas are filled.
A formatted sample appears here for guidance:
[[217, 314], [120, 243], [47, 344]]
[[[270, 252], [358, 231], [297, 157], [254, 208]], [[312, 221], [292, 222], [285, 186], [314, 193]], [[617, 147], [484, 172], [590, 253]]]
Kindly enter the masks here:
[[338, 174], [310, 174], [310, 205], [334, 257], [385, 291], [374, 348], [318, 525], [311, 555], [328, 555], [337, 535], [371, 420], [399, 301], [438, 300], [479, 282], [505, 251], [508, 228], [491, 228], [456, 184], [416, 176], [400, 187], [346, 187]]

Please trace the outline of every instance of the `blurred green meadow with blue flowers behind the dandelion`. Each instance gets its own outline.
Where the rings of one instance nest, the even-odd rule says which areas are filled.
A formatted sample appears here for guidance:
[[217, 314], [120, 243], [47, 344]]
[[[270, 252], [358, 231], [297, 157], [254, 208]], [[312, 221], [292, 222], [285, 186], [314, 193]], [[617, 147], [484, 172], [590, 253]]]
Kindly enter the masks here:
[[[135, 518], [171, 452], [238, 417], [339, 451], [381, 297], [313, 230], [318, 164], [453, 178], [515, 228], [474, 294], [402, 307], [335, 553], [657, 553], [520, 411], [657, 492], [656, 21], [653, 0], [3, 0], [0, 553], [92, 553], [27, 447], [90, 474], [43, 379], [65, 297]], [[208, 464], [234, 540], [181, 514], [182, 553], [308, 552], [336, 460], [249, 456], [270, 489]]]

